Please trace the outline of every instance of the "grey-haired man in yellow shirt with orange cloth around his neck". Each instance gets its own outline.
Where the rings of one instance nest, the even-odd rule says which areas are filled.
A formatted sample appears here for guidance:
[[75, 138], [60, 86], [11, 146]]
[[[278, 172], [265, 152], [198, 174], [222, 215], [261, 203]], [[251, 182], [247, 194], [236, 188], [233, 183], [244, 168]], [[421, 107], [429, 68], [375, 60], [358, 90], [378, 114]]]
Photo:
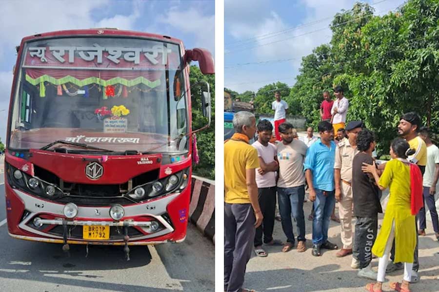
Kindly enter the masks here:
[[248, 144], [256, 132], [256, 118], [239, 111], [233, 128], [235, 134], [224, 143], [224, 291], [248, 292], [242, 289], [245, 267], [263, 219], [255, 172], [258, 151]]

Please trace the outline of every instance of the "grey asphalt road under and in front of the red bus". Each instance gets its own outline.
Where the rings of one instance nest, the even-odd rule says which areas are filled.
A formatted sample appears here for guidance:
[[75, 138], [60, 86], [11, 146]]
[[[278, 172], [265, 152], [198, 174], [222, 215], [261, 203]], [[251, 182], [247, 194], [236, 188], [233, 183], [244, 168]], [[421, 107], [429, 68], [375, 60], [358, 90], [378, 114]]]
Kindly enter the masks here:
[[[0, 183], [3, 183], [3, 176]], [[130, 246], [70, 245], [9, 237], [4, 184], [0, 185], [0, 292], [170, 292], [214, 291], [214, 245], [190, 224], [186, 240], [176, 244]]]

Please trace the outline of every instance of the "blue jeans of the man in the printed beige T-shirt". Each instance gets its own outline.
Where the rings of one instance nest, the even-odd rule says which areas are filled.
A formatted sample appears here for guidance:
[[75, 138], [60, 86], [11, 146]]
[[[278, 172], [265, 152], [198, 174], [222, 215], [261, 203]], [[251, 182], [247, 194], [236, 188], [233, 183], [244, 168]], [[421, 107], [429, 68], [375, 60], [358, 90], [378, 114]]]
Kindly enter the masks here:
[[303, 215], [303, 201], [305, 186], [278, 187], [279, 213], [282, 219], [283, 233], [288, 242], [294, 243], [293, 223], [291, 216], [297, 223], [297, 241], [305, 241], [305, 216]]

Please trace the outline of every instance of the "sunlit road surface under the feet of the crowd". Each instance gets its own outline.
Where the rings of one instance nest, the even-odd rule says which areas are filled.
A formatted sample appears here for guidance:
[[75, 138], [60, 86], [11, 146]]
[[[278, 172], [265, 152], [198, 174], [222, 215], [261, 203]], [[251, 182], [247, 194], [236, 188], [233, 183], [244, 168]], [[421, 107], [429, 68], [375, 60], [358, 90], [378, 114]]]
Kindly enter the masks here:
[[[383, 195], [385, 196], [385, 195]], [[385, 200], [383, 201], [385, 204]], [[258, 292], [364, 292], [365, 285], [372, 280], [358, 278], [357, 270], [350, 267], [352, 256], [338, 258], [337, 251], [322, 250], [322, 256], [311, 255], [312, 221], [308, 221], [311, 202], [304, 203], [305, 232], [307, 250], [298, 253], [296, 246], [287, 253], [281, 247], [263, 246], [267, 257], [257, 257], [253, 253], [247, 264], [244, 288]], [[337, 214], [336, 210], [336, 214]], [[427, 215], [429, 218], [429, 214]], [[380, 216], [382, 219], [382, 215]], [[379, 220], [379, 224], [381, 223]], [[355, 220], [353, 227], [355, 226]], [[293, 221], [294, 234], [296, 223]], [[427, 220], [427, 236], [419, 237], [419, 283], [410, 286], [412, 292], [439, 292], [439, 242], [434, 237], [431, 219]], [[331, 221], [329, 240], [341, 246], [340, 224]], [[286, 240], [280, 222], [275, 222], [274, 238]], [[297, 242], [296, 242], [297, 245]], [[372, 260], [372, 269], [378, 267], [378, 259]], [[403, 271], [386, 275], [391, 282], [401, 281]], [[383, 291], [392, 291], [389, 283], [383, 285]]]

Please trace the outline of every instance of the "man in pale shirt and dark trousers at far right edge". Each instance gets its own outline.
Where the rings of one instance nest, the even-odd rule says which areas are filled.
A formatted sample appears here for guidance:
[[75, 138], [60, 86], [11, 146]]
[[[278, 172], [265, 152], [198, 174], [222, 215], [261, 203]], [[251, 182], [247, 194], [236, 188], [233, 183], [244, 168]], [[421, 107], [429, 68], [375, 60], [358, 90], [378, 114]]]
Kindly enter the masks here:
[[436, 184], [439, 179], [439, 148], [434, 145], [430, 139], [429, 128], [422, 127], [419, 130], [419, 137], [425, 141], [427, 145], [427, 164], [422, 178], [424, 207], [419, 210], [419, 235], [425, 235], [425, 204], [430, 210], [431, 221], [435, 231], [436, 238], [439, 240], [439, 223], [438, 212], [435, 206]]

